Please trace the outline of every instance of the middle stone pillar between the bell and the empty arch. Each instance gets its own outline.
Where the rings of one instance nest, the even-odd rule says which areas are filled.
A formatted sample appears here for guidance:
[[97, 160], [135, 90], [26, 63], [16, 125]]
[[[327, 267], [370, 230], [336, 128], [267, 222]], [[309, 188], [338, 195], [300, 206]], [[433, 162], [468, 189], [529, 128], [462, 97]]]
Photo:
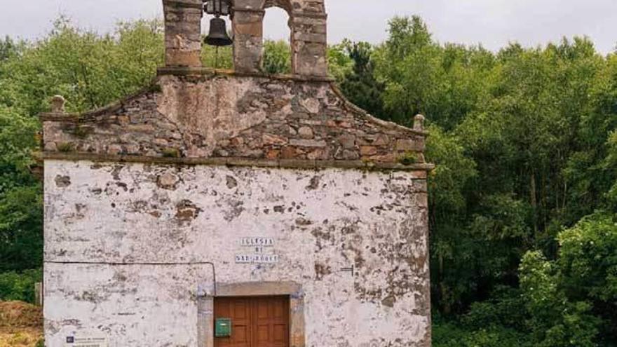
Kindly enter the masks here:
[[237, 72], [257, 73], [262, 67], [264, 11], [236, 4], [233, 14], [233, 65]]

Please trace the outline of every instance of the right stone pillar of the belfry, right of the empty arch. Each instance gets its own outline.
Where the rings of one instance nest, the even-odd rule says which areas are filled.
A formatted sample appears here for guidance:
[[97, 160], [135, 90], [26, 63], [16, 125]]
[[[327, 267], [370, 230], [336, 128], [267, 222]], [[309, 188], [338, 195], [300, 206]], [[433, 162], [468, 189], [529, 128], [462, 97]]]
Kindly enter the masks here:
[[292, 23], [292, 70], [305, 76], [327, 76], [327, 15], [294, 13]]

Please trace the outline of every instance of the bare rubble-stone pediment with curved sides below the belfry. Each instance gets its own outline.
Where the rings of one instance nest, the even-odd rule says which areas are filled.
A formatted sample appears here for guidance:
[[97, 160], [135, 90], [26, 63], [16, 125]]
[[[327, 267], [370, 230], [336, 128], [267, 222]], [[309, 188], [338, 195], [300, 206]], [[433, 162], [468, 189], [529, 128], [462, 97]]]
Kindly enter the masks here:
[[162, 69], [117, 104], [41, 120], [48, 158], [428, 170], [420, 117], [414, 129], [381, 121], [327, 78]]

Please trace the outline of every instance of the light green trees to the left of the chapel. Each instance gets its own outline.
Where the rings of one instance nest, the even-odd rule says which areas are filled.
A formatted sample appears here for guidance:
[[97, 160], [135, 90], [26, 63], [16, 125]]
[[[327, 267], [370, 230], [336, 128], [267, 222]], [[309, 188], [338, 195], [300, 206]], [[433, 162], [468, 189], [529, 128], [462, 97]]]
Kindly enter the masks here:
[[29, 168], [50, 97], [65, 95], [69, 111], [101, 107], [147, 86], [163, 62], [158, 20], [99, 35], [60, 18], [36, 43], [12, 42], [0, 44], [0, 272], [42, 264], [42, 189]]

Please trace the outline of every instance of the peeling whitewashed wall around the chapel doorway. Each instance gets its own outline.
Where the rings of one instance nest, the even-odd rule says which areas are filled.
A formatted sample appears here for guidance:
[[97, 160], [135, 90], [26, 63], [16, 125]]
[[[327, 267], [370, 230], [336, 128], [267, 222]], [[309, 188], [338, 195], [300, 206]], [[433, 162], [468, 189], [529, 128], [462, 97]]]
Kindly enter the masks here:
[[[430, 341], [426, 181], [412, 172], [47, 160], [45, 207], [48, 346], [196, 346], [210, 266], [109, 264], [193, 261], [220, 283], [300, 283], [306, 346]], [[236, 264], [251, 236], [273, 238], [277, 264]]]

